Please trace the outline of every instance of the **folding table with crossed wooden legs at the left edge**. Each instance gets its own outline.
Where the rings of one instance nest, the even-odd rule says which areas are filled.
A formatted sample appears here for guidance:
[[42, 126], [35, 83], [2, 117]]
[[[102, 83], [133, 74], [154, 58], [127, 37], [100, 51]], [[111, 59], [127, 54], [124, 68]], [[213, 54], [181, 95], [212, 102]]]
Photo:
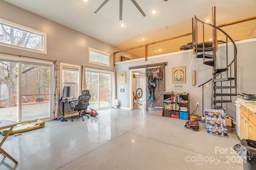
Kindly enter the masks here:
[[10, 158], [10, 160], [12, 160], [15, 164], [18, 164], [18, 162], [12, 158], [12, 156], [10, 156], [7, 152], [5, 152], [1, 146], [4, 143], [4, 141], [6, 140], [6, 138], [9, 136], [10, 132], [12, 131], [13, 127], [15, 127], [17, 124], [19, 124], [18, 122], [15, 121], [9, 121], [9, 120], [0, 120], [0, 130], [4, 129], [4, 128], [10, 128], [10, 130], [6, 133], [6, 135], [4, 136], [2, 142], [0, 143], [0, 154], [2, 154], [3, 156], [7, 156], [8, 158]]

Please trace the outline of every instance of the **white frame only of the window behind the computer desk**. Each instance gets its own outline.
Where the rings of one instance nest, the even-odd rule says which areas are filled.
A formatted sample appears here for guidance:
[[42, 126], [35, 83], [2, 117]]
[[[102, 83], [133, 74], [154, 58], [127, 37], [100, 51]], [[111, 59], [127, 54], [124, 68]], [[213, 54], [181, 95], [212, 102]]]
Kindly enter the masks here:
[[82, 82], [82, 76], [81, 76], [81, 66], [79, 65], [73, 65], [73, 64], [67, 64], [67, 63], [60, 63], [60, 93], [59, 93], [59, 99], [60, 97], [62, 97], [62, 89], [64, 87], [63, 85], [63, 81], [62, 81], [62, 70], [63, 68], [73, 68], [73, 69], [78, 69], [78, 78], [77, 78], [77, 81], [78, 82], [69, 82], [69, 84], [73, 84], [73, 83], [76, 83], [76, 88], [77, 88], [77, 91], [76, 91], [76, 97], [78, 97], [81, 93], [81, 89], [82, 89], [82, 86], [80, 85], [81, 82]]

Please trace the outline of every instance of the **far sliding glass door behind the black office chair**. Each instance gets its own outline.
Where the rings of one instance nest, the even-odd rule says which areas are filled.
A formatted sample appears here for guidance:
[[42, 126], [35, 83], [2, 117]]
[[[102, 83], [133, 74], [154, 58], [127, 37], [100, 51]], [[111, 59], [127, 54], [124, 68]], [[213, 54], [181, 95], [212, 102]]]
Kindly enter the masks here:
[[110, 71], [86, 70], [86, 87], [91, 94], [88, 109], [112, 107], [112, 77]]

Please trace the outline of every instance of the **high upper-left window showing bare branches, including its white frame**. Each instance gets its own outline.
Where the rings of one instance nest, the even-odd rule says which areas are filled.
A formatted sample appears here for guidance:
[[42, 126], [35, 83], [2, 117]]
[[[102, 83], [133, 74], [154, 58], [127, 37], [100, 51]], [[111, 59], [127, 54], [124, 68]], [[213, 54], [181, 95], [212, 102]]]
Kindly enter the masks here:
[[46, 53], [46, 34], [0, 19], [0, 45]]

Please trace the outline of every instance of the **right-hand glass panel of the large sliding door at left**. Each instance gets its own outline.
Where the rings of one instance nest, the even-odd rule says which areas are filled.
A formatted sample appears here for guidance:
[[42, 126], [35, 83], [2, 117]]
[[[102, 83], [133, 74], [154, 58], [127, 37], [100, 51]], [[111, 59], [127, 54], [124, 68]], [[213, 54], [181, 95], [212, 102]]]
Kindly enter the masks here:
[[50, 117], [50, 67], [21, 63], [21, 121]]

